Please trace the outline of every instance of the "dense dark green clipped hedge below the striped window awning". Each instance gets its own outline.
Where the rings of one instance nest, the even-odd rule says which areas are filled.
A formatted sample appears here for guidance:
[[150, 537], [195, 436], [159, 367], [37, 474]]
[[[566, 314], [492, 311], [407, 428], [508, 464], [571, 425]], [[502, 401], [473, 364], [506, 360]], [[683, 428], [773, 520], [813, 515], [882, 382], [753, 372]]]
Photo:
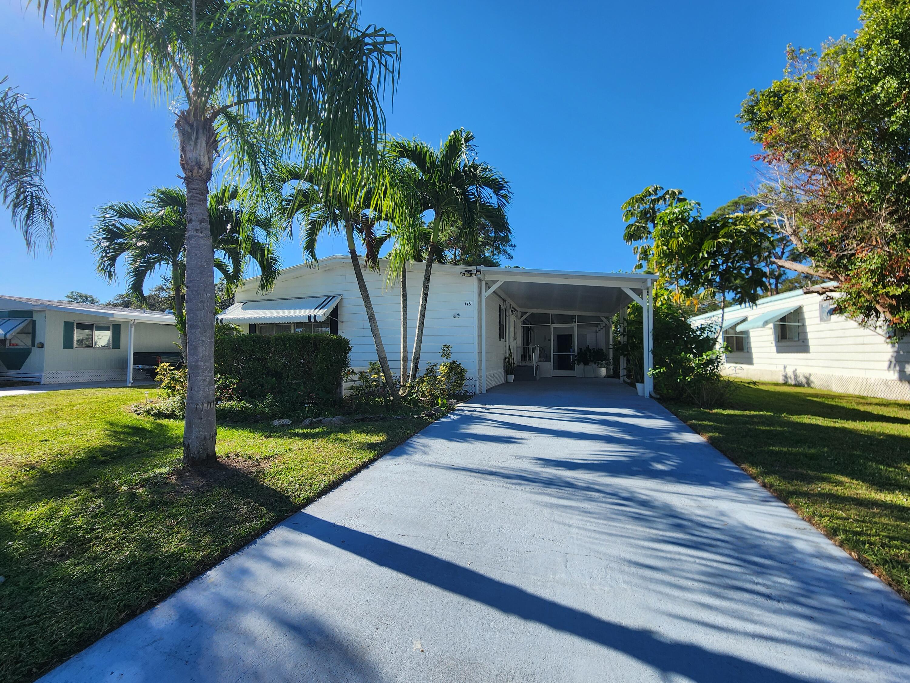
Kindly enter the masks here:
[[335, 334], [238, 334], [215, 340], [215, 373], [238, 398], [322, 399], [338, 394], [349, 356], [350, 342]]

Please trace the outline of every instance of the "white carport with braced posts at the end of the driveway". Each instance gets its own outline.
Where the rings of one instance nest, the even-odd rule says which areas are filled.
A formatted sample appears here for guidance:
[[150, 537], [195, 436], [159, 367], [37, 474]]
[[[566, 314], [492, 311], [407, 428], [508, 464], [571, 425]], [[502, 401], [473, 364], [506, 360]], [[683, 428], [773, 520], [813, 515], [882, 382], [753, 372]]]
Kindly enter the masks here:
[[[551, 316], [552, 325], [553, 321], [559, 320], [557, 316], [565, 316], [566, 321], [575, 316], [575, 322], [566, 324], [567, 333], [572, 325], [577, 329], [577, 321], [581, 320], [581, 316], [589, 321], [603, 321], [609, 328], [612, 316], [619, 311], [624, 317], [626, 306], [630, 301], [635, 301], [644, 310], [643, 383], [645, 395], [652, 395], [653, 381], [650, 371], [653, 367], [653, 283], [657, 279], [656, 275], [524, 268], [477, 268], [465, 270], [463, 274], [475, 275], [480, 283], [478, 288], [480, 392], [486, 392], [490, 383], [488, 365], [498, 362], [498, 352], [490, 353], [488, 334], [490, 321], [499, 320], [499, 324], [502, 324], [501, 306], [496, 302], [497, 299], [505, 301], [510, 308], [508, 313], [520, 322], [527, 320], [531, 315], [544, 314]], [[498, 312], [497, 306], [500, 306]], [[501, 337], [501, 332], [499, 336]], [[559, 359], [561, 362], [573, 362], [577, 350], [570, 348], [569, 351], [556, 351], [555, 336], [552, 347], [554, 358], [562, 356]], [[533, 362], [536, 375], [536, 357]], [[624, 367], [620, 370], [621, 374], [625, 372]]]

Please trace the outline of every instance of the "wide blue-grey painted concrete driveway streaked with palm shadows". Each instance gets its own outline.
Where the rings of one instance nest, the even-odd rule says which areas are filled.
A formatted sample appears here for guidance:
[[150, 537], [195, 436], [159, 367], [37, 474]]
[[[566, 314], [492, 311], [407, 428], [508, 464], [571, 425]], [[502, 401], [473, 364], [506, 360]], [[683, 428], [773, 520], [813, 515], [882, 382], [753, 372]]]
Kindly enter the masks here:
[[657, 403], [517, 383], [50, 681], [907, 681], [910, 608]]

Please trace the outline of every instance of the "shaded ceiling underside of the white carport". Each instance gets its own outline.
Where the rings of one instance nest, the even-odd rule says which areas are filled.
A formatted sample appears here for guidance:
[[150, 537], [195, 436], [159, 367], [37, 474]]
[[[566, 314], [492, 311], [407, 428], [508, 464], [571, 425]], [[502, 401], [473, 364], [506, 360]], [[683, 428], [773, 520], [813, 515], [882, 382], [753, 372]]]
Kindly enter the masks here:
[[521, 311], [567, 311], [612, 315], [632, 301], [620, 287], [506, 280], [497, 289]]

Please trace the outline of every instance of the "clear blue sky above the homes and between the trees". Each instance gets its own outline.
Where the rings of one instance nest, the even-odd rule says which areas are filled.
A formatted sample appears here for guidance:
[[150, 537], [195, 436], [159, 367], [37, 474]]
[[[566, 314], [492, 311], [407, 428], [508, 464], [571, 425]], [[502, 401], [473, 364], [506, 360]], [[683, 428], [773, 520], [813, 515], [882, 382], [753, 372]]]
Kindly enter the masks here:
[[[856, 0], [649, 3], [362, 0], [364, 20], [399, 37], [389, 133], [432, 144], [470, 128], [480, 157], [511, 180], [512, 265], [630, 270], [620, 205], [646, 185], [713, 209], [753, 186], [754, 149], [736, 122], [752, 87], [779, 77], [788, 43], [817, 47], [858, 26]], [[34, 97], [51, 138], [57, 209], [51, 255], [25, 253], [8, 214], [0, 293], [67, 291], [106, 301], [86, 238], [96, 209], [178, 183], [173, 117], [114, 91], [94, 60], [61, 49], [34, 12], [0, 0], [0, 75]], [[344, 251], [327, 240], [319, 256]], [[296, 242], [286, 266], [301, 262]]]

